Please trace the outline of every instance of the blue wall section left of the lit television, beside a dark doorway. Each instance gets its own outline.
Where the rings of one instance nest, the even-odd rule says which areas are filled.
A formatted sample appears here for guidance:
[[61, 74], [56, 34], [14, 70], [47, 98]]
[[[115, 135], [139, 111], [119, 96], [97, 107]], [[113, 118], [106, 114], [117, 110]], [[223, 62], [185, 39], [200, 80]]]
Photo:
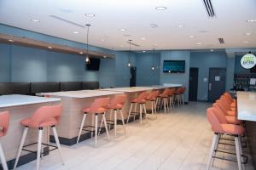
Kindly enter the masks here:
[[[160, 83], [160, 53], [137, 53], [137, 86]], [[154, 71], [151, 70], [154, 65]]]

